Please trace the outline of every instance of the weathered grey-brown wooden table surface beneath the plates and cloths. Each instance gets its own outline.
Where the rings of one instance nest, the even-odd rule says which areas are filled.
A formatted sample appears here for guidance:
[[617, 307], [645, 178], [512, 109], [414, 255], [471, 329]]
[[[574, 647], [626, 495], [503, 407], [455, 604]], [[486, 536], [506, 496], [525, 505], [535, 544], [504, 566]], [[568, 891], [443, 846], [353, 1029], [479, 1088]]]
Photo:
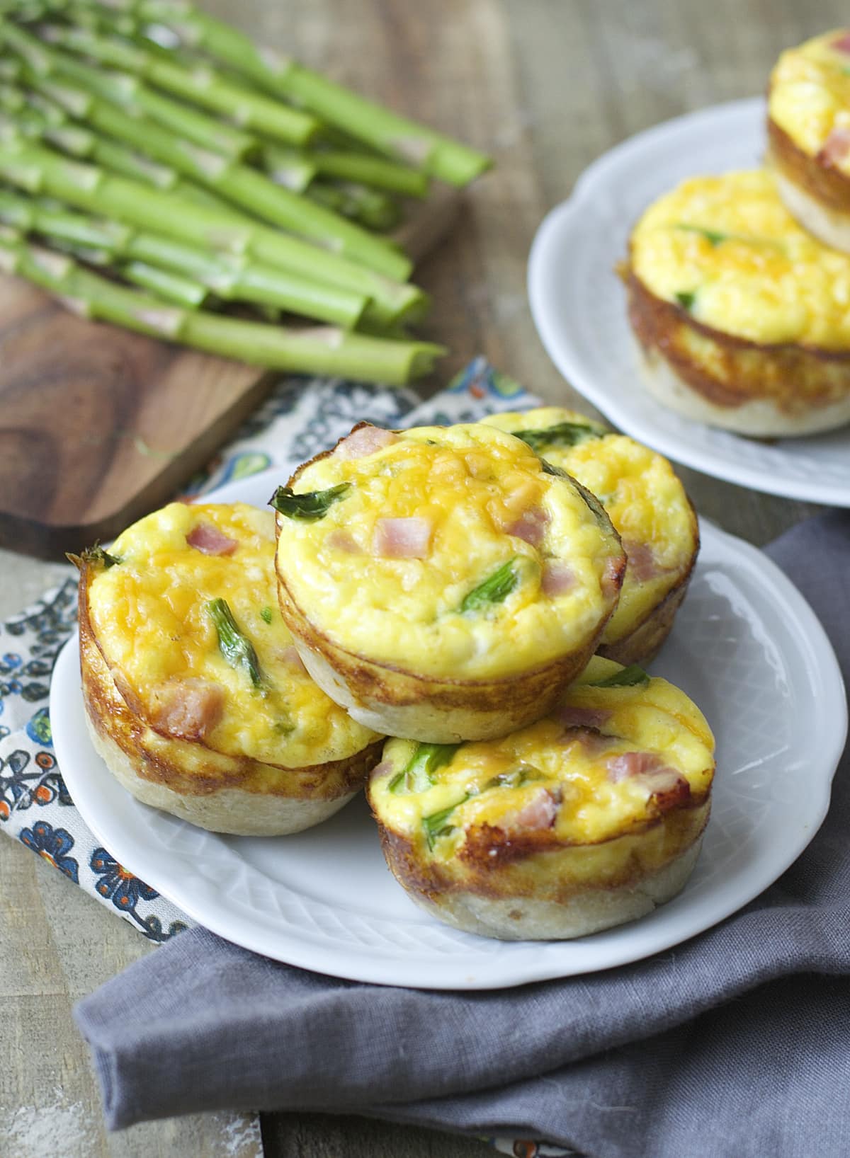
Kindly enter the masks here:
[[[426, 331], [451, 354], [439, 382], [485, 353], [552, 403], [576, 396], [548, 361], [525, 298], [544, 213], [596, 156], [689, 109], [764, 91], [777, 53], [847, 19], [838, 0], [206, 0], [263, 44], [492, 151], [497, 167], [420, 271]], [[690, 470], [698, 511], [762, 544], [815, 507]], [[0, 552], [0, 617], [60, 564]], [[199, 1115], [103, 1129], [79, 997], [150, 945], [17, 842], [0, 840], [0, 1155], [148, 1158], [473, 1158], [457, 1138], [320, 1114]]]

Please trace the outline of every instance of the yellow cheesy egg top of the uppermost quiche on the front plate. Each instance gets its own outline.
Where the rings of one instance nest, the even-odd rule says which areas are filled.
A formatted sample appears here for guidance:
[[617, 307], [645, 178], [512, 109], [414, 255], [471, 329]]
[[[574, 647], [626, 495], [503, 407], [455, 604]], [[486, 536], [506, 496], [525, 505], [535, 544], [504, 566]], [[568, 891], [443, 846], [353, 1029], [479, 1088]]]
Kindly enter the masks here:
[[[293, 490], [340, 485], [320, 519], [278, 515], [278, 571], [303, 614], [355, 654], [417, 675], [499, 677], [583, 646], [615, 606], [622, 549], [604, 512], [501, 431], [402, 431], [364, 457], [313, 460]], [[529, 512], [545, 523], [538, 545], [510, 533]], [[376, 548], [386, 519], [427, 527], [422, 557]], [[550, 596], [542, 577], [553, 563], [572, 581]], [[500, 569], [511, 589], [464, 609]]]

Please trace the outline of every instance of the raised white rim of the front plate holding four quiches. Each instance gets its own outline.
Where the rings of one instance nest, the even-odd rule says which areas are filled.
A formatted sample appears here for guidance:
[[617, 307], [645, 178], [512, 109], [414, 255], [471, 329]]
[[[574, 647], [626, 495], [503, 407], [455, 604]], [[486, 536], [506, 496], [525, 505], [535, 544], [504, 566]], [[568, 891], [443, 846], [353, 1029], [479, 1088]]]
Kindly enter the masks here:
[[[249, 494], [252, 489], [259, 491], [261, 486], [264, 488], [264, 479], [276, 474], [277, 471], [273, 468], [269, 471], [263, 471], [262, 474], [226, 484], [217, 491], [212, 491], [201, 498], [203, 501], [250, 501], [250, 499], [246, 499], [246, 492]], [[443, 959], [451, 961], [455, 966], [455, 972], [450, 976], [443, 975], [443, 973], [439, 972], [442, 963], [435, 960], [434, 952], [426, 957], [421, 963], [413, 962], [409, 954], [399, 957], [398, 953], [393, 954], [388, 951], [386, 953], [380, 953], [375, 950], [369, 950], [366, 953], [359, 953], [357, 960], [354, 960], [357, 954], [355, 954], [351, 946], [346, 945], [341, 946], [346, 954], [346, 960], [339, 961], [334, 965], [328, 961], [326, 957], [322, 957], [320, 960], [317, 959], [313, 947], [308, 944], [306, 945], [304, 952], [300, 952], [299, 946], [296, 946], [296, 951], [293, 952], [291, 941], [293, 935], [296, 939], [298, 938], [299, 931], [297, 929], [290, 931], [289, 947], [284, 954], [279, 947], [270, 944], [263, 926], [256, 925], [252, 930], [250, 926], [245, 926], [245, 922], [239, 913], [235, 914], [234, 917], [233, 911], [227, 908], [226, 899], [220, 909], [216, 910], [213, 907], [213, 911], [211, 913], [204, 896], [202, 895], [199, 899], [194, 896], [191, 894], [191, 888], [187, 894], [183, 889], [181, 889], [180, 881], [175, 884], [173, 875], [168, 875], [165, 865], [162, 866], [162, 875], [160, 874], [157, 856], [159, 855], [161, 857], [161, 850], [159, 850], [159, 852], [151, 849], [146, 850], [143, 845], [140, 851], [136, 848], [130, 849], [130, 855], [128, 856], [126, 848], [122, 846], [121, 849], [116, 849], [114, 846], [115, 841], [112, 840], [114, 834], [111, 833], [109, 826], [103, 828], [101, 824], [101, 815], [96, 813], [96, 811], [93, 812], [89, 809], [86, 793], [75, 792], [77, 765], [72, 761], [67, 764], [67, 767], [74, 769], [72, 776], [68, 778], [68, 787], [72, 797], [74, 798], [77, 808], [83, 821], [94, 833], [95, 837], [101, 841], [101, 843], [108, 848], [112, 855], [117, 856], [122, 864], [126, 864], [126, 866], [133, 872], [137, 872], [136, 866], [138, 866], [138, 875], [143, 880], [146, 880], [146, 882], [155, 888], [164, 897], [170, 900], [199, 924], [218, 933], [225, 939], [234, 941], [245, 948], [261, 953], [264, 957], [270, 957], [275, 960], [284, 961], [300, 968], [330, 974], [332, 976], [339, 976], [350, 981], [439, 990], [508, 989], [517, 985], [530, 984], [537, 981], [579, 976], [589, 973], [603, 972], [609, 968], [617, 968], [669, 950], [674, 945], [681, 944], [682, 941], [690, 940], [692, 937], [713, 928], [720, 921], [731, 916], [733, 913], [736, 913], [742, 906], [749, 903], [749, 901], [751, 901], [755, 896], [769, 887], [769, 885], [772, 884], [779, 875], [782, 875], [782, 873], [804, 851], [820, 828], [827, 814], [833, 776], [835, 775], [847, 736], [847, 699], [844, 696], [841, 669], [829, 638], [805, 596], [798, 591], [782, 569], [779, 569], [769, 557], [763, 555], [758, 548], [721, 530], [707, 520], [702, 520], [702, 530], [704, 543], [711, 543], [714, 541], [722, 551], [726, 554], [732, 551], [738, 560], [754, 571], [757, 570], [760, 576], [762, 576], [767, 570], [769, 579], [771, 580], [769, 585], [771, 592], [771, 603], [773, 608], [778, 610], [790, 608], [793, 613], [791, 622], [795, 625], [794, 635], [792, 637], [795, 651], [805, 655], [807, 659], [807, 669], [811, 668], [818, 673], [822, 686], [819, 695], [828, 697], [831, 692], [834, 701], [831, 704], [834, 713], [834, 728], [830, 750], [821, 756], [822, 772], [815, 782], [819, 786], [819, 791], [809, 794], [812, 807], [811, 812], [807, 812], [806, 814], [808, 821], [807, 828], [804, 829], [804, 827], [800, 826], [797, 840], [790, 844], [787, 842], [784, 843], [782, 849], [783, 855], [778, 857], [776, 862], [772, 862], [770, 865], [760, 864], [757, 866], [760, 871], [755, 874], [755, 878], [749, 877], [747, 879], [746, 887], [742, 889], [739, 888], [735, 892], [732, 903], [727, 900], [718, 904], [718, 897], [715, 896], [713, 908], [709, 906], [711, 911], [707, 914], [707, 917], [705, 919], [697, 921], [696, 925], [688, 925], [683, 933], [676, 931], [677, 922], [674, 921], [673, 929], [669, 930], [673, 936], [653, 939], [653, 926], [648, 924], [653, 916], [651, 914], [642, 921], [633, 922], [629, 925], [622, 925], [618, 929], [595, 935], [597, 941], [606, 936], [616, 938], [613, 957], [603, 963], [584, 963], [577, 968], [565, 968], [562, 962], [559, 963], [558, 958], [568, 958], [571, 951], [575, 954], [576, 946], [579, 946], [579, 955], [581, 955], [582, 943], [584, 946], [590, 945], [589, 952], [590, 957], [593, 957], [593, 938], [582, 938], [577, 941], [544, 943], [494, 943], [487, 940], [487, 953], [481, 954], [480, 958], [472, 961], [462, 954], [445, 954]], [[697, 566], [699, 566], [699, 560]], [[72, 636], [68, 643], [61, 648], [55, 669], [55, 676], [58, 673], [59, 677], [51, 680], [50, 689], [51, 721], [55, 724], [53, 740], [60, 769], [63, 768], [61, 750], [65, 747], [65, 718], [68, 711], [68, 704], [64, 703], [61, 699], [61, 697], [66, 695], [65, 683], [63, 681], [74, 677], [74, 673], [77, 673], [75, 689], [79, 694], [79, 665], [77, 662], [78, 652], [74, 651], [75, 638], [77, 636]], [[81, 721], [78, 720], [78, 724]], [[94, 755], [95, 760], [100, 758], [96, 754], [94, 754], [93, 749], [92, 755]], [[109, 776], [109, 772], [106, 772], [106, 769], [104, 774]], [[63, 775], [65, 775], [64, 771]], [[809, 790], [813, 786], [813, 783], [809, 780]], [[125, 790], [121, 789], [121, 791], [124, 792]], [[82, 806], [80, 806], [78, 796], [83, 801]], [[126, 793], [126, 797], [133, 805], [143, 808], [146, 807], [144, 805], [138, 805], [138, 801], [135, 801], [130, 793]], [[221, 837], [217, 834], [208, 834], [201, 829], [197, 829], [197, 831], [209, 838], [221, 840]], [[153, 859], [152, 863], [148, 864], [148, 858], [151, 857]], [[252, 871], [259, 872], [259, 870], [255, 868], [252, 868]], [[281, 887], [285, 888], [285, 886]], [[684, 894], [686, 894], [686, 888], [688, 886], [685, 886]], [[717, 889], [712, 887], [710, 895], [711, 893], [717, 893]], [[310, 903], [308, 899], [306, 901], [304, 899], [302, 900], [303, 903]], [[675, 900], [670, 903], [674, 904]], [[717, 911], [718, 907], [721, 911]], [[667, 906], [663, 906], [661, 909], [655, 911], [661, 914], [663, 917], [666, 909]], [[235, 919], [239, 924], [239, 929], [237, 930], [238, 936], [234, 936], [232, 924], [233, 919]], [[436, 921], [436, 918], [431, 919]], [[437, 924], [439, 923], [437, 922]], [[646, 937], [647, 930], [648, 938]], [[475, 941], [479, 940], [477, 937], [473, 938], [472, 935], [460, 936], [470, 937], [471, 948], [474, 948]], [[617, 953], [616, 950], [619, 941], [624, 943], [625, 948], [624, 951]], [[548, 953], [545, 951], [540, 952], [542, 946], [551, 946], [551, 951]], [[523, 952], [526, 960], [523, 960], [521, 955]], [[474, 957], [474, 954], [470, 954], [470, 957]], [[504, 963], [506, 961], [507, 965]], [[514, 969], [511, 969], [511, 963], [515, 966]], [[416, 969], [419, 969], [419, 973]], [[463, 974], [466, 975], [464, 976]]]

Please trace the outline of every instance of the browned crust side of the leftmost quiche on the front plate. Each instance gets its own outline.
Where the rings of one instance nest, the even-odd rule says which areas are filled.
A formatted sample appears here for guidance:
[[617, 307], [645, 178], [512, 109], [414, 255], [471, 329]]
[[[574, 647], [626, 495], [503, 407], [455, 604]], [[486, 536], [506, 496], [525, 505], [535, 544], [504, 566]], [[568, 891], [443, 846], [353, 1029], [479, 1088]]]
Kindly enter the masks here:
[[[104, 750], [111, 750], [110, 745], [115, 745], [130, 762], [139, 782], [160, 785], [186, 799], [209, 798], [217, 793], [232, 798], [232, 793], [239, 791], [253, 798], [261, 826], [263, 798], [332, 802], [348, 799], [363, 785], [370, 769], [380, 758], [380, 740], [346, 760], [286, 768], [247, 756], [226, 755], [199, 741], [175, 739], [158, 731], [154, 723], [144, 717], [130, 689], [123, 686], [119, 673], [114, 675], [110, 670], [101, 651], [89, 616], [92, 578], [92, 566], [81, 560], [80, 669], [86, 712], [93, 730], [103, 741]], [[119, 684], [124, 687], [123, 695]], [[111, 770], [115, 771], [115, 768]], [[125, 776], [119, 778], [125, 783]], [[226, 827], [227, 811], [223, 808], [220, 826], [204, 827], [231, 831]]]

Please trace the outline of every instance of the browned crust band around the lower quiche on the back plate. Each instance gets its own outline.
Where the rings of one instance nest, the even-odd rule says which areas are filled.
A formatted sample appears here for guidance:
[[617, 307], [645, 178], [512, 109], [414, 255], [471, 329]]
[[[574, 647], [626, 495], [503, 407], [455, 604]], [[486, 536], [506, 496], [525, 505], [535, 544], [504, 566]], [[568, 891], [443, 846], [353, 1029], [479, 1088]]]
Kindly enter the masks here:
[[656, 298], [631, 269], [626, 290], [629, 320], [651, 365], [666, 362], [681, 383], [718, 410], [718, 425], [724, 410], [733, 425], [734, 411], [754, 403], [776, 418], [776, 433], [794, 433], [795, 424], [816, 422], [818, 412], [833, 409], [837, 416], [829, 425], [850, 418], [850, 351], [767, 345], [714, 330]]

